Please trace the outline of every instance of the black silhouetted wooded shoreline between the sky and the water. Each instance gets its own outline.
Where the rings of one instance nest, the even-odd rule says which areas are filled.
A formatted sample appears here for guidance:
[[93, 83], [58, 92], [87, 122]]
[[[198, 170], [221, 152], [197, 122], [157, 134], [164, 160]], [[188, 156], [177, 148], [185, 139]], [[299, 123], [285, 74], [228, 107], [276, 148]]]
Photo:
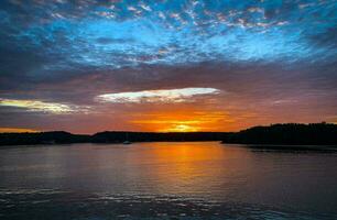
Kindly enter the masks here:
[[0, 145], [184, 142], [221, 141], [222, 143], [254, 145], [335, 145], [337, 125], [331, 123], [286, 123], [253, 127], [239, 132], [128, 132], [105, 131], [94, 135], [72, 134], [64, 131], [40, 133], [0, 133]]

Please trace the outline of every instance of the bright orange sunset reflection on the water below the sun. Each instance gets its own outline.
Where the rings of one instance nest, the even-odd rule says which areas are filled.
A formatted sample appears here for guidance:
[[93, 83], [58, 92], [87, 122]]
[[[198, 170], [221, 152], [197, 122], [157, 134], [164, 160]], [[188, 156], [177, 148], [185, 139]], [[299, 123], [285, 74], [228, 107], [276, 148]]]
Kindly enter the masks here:
[[237, 173], [231, 167], [244, 166], [244, 158], [249, 157], [244, 148], [227, 152], [217, 142], [143, 143], [142, 146], [146, 146], [142, 154], [129, 158], [137, 164], [137, 172], [148, 176], [159, 193], [178, 195], [215, 193], [220, 185], [235, 179]]

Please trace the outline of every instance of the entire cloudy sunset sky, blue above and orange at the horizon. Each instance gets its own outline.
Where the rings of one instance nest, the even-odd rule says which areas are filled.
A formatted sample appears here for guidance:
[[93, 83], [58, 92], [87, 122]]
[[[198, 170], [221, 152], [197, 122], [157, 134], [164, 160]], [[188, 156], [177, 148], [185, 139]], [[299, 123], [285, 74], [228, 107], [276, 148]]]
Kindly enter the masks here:
[[336, 0], [2, 0], [0, 132], [337, 123]]

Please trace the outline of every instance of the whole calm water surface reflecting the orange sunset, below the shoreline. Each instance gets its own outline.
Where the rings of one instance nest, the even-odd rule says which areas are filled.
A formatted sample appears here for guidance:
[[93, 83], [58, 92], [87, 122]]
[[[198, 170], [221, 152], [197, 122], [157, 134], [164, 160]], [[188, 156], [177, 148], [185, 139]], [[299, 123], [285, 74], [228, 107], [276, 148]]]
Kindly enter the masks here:
[[337, 154], [216, 142], [6, 147], [0, 219], [337, 219]]

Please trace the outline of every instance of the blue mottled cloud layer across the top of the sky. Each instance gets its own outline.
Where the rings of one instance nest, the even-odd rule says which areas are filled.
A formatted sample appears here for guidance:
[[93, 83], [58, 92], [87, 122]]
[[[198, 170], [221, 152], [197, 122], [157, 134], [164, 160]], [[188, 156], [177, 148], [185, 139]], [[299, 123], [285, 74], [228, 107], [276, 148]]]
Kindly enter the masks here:
[[[13, 52], [46, 59], [41, 64], [29, 58], [29, 64], [36, 65], [32, 73], [41, 74], [85, 65], [118, 69], [208, 61], [293, 62], [326, 54], [326, 47], [312, 44], [308, 38], [324, 37], [325, 32], [335, 37], [331, 25], [336, 21], [333, 13], [336, 7], [316, 1], [311, 4], [314, 9], [304, 10], [298, 8], [301, 1], [254, 4], [28, 1], [20, 6], [4, 1], [0, 33], [3, 45], [11, 45]], [[273, 11], [273, 15], [267, 16], [268, 11]], [[99, 15], [102, 12], [113, 12], [116, 18]], [[160, 20], [163, 15], [170, 19]], [[172, 45], [178, 50], [170, 50]], [[159, 55], [159, 51], [167, 53]], [[336, 53], [328, 55], [331, 58]], [[15, 57], [6, 64], [28, 65], [24, 62]]]

